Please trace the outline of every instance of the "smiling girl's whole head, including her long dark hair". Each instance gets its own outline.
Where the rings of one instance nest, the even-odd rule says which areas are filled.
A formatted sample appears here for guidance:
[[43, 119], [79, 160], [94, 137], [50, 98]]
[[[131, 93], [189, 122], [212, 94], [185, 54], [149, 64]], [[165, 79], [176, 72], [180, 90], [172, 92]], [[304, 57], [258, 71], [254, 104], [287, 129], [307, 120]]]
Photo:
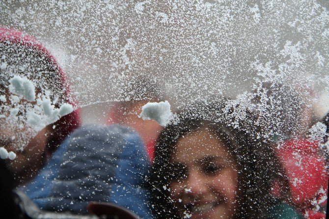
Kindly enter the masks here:
[[265, 214], [272, 202], [272, 183], [280, 178], [276, 174], [283, 174], [271, 145], [253, 139], [243, 128], [233, 130], [198, 112], [178, 118], [157, 141], [151, 177], [156, 214], [160, 218]]

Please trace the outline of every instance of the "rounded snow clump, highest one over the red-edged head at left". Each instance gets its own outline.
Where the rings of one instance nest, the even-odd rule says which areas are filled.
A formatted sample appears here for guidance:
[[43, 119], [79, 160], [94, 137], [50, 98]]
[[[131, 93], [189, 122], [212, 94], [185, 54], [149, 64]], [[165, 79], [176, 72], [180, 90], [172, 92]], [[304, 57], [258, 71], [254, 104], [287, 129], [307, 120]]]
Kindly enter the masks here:
[[34, 84], [27, 78], [20, 76], [14, 76], [9, 80], [9, 91], [13, 94], [23, 96], [28, 101], [35, 100], [35, 88]]

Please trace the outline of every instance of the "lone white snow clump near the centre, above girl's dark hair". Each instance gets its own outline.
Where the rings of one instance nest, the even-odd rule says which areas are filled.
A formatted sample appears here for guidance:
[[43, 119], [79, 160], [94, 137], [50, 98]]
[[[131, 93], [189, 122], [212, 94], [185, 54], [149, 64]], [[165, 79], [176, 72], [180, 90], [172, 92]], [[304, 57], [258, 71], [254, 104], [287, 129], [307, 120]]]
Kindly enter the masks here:
[[157, 121], [161, 126], [165, 126], [172, 116], [170, 104], [168, 101], [160, 103], [147, 103], [141, 109], [142, 112], [140, 113], [139, 117], [144, 120], [153, 119]]

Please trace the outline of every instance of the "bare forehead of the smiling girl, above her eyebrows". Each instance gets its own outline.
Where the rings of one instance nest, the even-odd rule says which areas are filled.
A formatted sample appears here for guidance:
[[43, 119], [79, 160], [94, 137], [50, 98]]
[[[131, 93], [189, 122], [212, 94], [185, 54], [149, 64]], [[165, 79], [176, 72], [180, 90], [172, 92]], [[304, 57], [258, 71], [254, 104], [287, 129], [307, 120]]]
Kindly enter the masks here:
[[195, 163], [206, 157], [227, 158], [228, 150], [211, 131], [201, 129], [181, 137], [173, 151], [172, 161]]

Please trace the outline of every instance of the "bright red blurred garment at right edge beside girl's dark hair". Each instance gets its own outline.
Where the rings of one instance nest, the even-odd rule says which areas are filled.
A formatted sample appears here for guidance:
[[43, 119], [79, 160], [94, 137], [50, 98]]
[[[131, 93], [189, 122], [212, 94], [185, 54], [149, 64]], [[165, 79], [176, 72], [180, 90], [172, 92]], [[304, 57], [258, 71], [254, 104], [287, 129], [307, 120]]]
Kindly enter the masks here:
[[292, 201], [301, 208], [310, 206], [311, 199], [327, 195], [326, 161], [319, 153], [318, 143], [292, 139], [283, 142], [276, 150], [289, 178]]

